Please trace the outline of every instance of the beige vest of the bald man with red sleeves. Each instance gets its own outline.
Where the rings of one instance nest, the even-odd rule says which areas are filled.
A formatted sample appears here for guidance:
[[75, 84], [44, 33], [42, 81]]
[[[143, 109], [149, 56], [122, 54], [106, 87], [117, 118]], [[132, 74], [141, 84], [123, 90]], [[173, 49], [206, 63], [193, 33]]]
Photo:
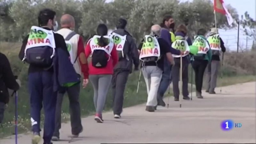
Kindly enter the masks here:
[[[68, 36], [68, 34], [72, 32], [70, 29], [68, 28], [62, 28], [60, 30], [57, 31], [58, 34], [62, 35], [64, 37], [64, 39]], [[76, 59], [77, 56], [77, 45], [78, 45], [78, 40], [79, 40], [79, 35], [76, 34], [75, 36], [73, 36], [69, 41], [72, 44], [72, 51], [73, 51], [73, 60]], [[74, 68], [76, 70], [76, 73], [79, 75], [82, 75], [82, 71], [81, 71], [81, 65], [80, 65], [80, 61], [79, 61], [79, 57], [77, 58], [76, 62], [74, 63]]]

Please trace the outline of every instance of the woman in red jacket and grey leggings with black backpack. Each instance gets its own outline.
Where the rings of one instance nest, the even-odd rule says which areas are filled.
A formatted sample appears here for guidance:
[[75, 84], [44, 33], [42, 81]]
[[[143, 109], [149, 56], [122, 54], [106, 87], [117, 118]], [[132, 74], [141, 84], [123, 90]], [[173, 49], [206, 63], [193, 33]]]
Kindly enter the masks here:
[[102, 111], [105, 105], [108, 88], [111, 83], [113, 69], [118, 62], [118, 55], [113, 40], [108, 35], [108, 28], [100, 24], [97, 35], [93, 36], [85, 47], [85, 56], [89, 64], [89, 80], [94, 90], [94, 106], [96, 108], [95, 120], [103, 123]]

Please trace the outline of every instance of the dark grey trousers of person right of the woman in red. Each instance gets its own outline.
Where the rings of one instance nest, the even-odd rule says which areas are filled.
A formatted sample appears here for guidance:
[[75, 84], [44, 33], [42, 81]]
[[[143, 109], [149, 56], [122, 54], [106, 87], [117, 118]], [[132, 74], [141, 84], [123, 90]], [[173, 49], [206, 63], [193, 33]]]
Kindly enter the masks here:
[[120, 115], [123, 110], [124, 90], [129, 71], [114, 71], [112, 77], [112, 95], [114, 115]]

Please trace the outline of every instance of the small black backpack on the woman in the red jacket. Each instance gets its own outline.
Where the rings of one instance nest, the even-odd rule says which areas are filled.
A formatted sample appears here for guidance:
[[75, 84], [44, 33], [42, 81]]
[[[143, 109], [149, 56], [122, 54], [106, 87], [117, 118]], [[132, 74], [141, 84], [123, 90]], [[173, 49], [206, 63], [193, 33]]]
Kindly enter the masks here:
[[105, 68], [108, 64], [109, 55], [103, 50], [92, 52], [92, 66], [95, 68]]

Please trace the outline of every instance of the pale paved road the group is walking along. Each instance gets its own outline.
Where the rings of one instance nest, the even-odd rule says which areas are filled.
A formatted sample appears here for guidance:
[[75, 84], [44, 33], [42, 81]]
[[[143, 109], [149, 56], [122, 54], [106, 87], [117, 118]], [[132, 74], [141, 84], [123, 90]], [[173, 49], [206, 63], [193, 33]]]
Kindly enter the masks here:
[[[122, 119], [114, 119], [112, 112], [104, 113], [103, 124], [96, 123], [93, 116], [83, 118], [84, 132], [76, 139], [69, 137], [70, 123], [62, 124], [62, 141], [54, 144], [256, 143], [255, 82], [223, 87], [222, 94], [203, 96], [182, 100], [182, 108], [172, 98], [169, 109], [159, 107], [153, 113], [145, 111], [145, 104], [124, 108]], [[220, 123], [226, 119], [242, 123], [242, 127], [222, 131]], [[29, 144], [30, 138], [19, 135], [19, 144]], [[0, 143], [14, 144], [14, 137]]]

